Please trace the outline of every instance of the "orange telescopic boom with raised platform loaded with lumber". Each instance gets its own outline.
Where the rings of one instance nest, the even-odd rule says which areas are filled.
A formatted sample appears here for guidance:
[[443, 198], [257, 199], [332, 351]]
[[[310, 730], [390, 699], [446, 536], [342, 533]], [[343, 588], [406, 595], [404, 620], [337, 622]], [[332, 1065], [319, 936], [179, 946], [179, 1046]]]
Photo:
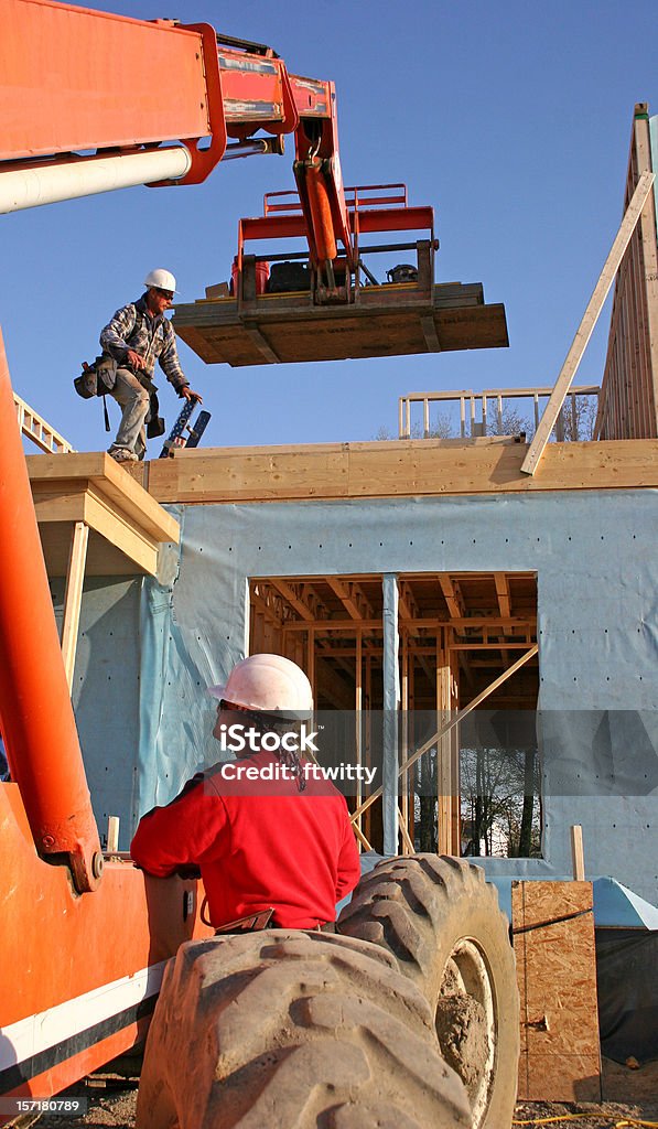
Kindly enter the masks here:
[[[262, 365], [507, 345], [502, 305], [480, 283], [433, 285], [433, 210], [403, 184], [345, 189], [333, 82], [290, 75], [271, 47], [209, 24], [144, 23], [51, 0], [0, 0], [0, 212], [134, 184], [198, 184], [222, 160], [282, 152], [295, 135], [297, 193], [270, 194], [238, 233], [231, 301], [176, 312], [207, 361]], [[152, 97], [158, 76], [176, 97]], [[411, 233], [410, 242], [362, 237]], [[420, 235], [420, 238], [418, 236]], [[308, 292], [262, 297], [253, 239], [302, 238]], [[369, 253], [413, 251], [403, 282], [379, 286]], [[310, 308], [309, 308], [310, 307]], [[339, 307], [339, 308], [331, 308]]]

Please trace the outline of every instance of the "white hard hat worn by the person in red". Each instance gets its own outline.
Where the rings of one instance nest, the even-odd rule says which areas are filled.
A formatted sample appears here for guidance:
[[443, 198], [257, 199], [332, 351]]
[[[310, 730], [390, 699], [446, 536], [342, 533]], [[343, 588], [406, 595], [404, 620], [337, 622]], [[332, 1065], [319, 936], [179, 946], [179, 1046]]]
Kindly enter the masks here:
[[210, 686], [213, 698], [302, 721], [313, 714], [313, 690], [304, 671], [281, 655], [251, 655], [234, 666], [225, 685]]

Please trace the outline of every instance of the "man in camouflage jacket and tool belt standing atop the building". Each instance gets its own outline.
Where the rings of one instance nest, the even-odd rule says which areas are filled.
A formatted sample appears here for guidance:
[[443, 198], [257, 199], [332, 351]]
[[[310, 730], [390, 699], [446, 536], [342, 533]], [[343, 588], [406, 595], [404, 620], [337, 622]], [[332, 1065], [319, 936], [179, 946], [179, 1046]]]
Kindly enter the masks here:
[[144, 421], [149, 414], [150, 394], [155, 392], [156, 360], [179, 396], [201, 403], [201, 396], [192, 392], [183, 375], [176, 335], [165, 317], [176, 292], [176, 279], [160, 268], [147, 274], [144, 286], [146, 294], [138, 301], [117, 309], [100, 333], [100, 347], [109, 358], [104, 380], [109, 395], [122, 408], [116, 439], [109, 448], [117, 463], [144, 457]]

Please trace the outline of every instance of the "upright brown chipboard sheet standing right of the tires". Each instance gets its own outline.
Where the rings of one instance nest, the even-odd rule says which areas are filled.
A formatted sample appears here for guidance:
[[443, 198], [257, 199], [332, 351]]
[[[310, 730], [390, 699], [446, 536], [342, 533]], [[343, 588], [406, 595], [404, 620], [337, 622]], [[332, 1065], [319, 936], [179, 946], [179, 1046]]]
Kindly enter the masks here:
[[591, 909], [589, 882], [512, 883], [525, 1101], [600, 1100]]

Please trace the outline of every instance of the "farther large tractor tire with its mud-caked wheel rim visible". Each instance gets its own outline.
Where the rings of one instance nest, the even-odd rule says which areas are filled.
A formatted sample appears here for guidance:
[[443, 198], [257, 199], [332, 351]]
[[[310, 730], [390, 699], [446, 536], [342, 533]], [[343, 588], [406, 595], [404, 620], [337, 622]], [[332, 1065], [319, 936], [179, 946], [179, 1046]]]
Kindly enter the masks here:
[[380, 863], [357, 886], [339, 929], [383, 946], [421, 990], [444, 1058], [468, 1093], [473, 1129], [508, 1129], [519, 1054], [516, 966], [483, 870], [438, 855]]

